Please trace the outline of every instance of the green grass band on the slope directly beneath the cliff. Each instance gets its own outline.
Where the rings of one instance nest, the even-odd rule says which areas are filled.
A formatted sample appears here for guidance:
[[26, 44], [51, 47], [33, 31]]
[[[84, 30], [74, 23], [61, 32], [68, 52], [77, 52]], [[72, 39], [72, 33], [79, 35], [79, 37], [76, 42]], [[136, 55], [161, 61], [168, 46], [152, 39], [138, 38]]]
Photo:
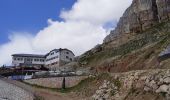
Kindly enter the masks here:
[[[97, 53], [88, 51], [84, 54], [82, 58], [79, 59], [80, 64], [86, 62], [87, 66], [96, 66], [100, 64], [105, 59], [125, 56], [134, 50], [141, 49], [142, 47], [149, 45], [151, 43], [156, 43], [160, 41], [160, 44], [164, 44], [169, 39], [169, 22], [160, 23], [136, 36], [134, 40], [131, 40], [119, 47], [110, 48], [107, 50], [102, 50]], [[145, 58], [149, 58], [154, 52], [146, 55]]]

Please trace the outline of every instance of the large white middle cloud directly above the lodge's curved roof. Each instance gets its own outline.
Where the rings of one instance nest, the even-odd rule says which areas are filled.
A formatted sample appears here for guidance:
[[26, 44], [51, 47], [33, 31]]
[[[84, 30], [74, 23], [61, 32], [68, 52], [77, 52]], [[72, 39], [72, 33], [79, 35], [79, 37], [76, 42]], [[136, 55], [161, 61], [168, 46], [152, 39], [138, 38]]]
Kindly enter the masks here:
[[37, 50], [46, 48], [69, 48], [76, 55], [102, 43], [105, 29], [84, 21], [53, 22], [41, 30], [34, 39]]

